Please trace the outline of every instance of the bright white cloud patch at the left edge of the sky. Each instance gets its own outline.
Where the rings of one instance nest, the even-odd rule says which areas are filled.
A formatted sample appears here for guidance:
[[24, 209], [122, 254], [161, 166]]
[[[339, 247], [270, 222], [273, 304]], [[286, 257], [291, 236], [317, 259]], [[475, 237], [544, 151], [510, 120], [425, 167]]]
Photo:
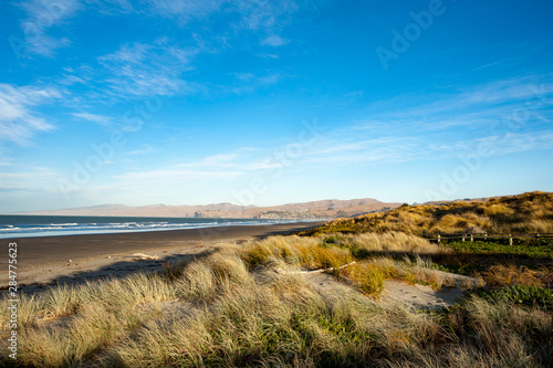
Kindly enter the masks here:
[[28, 145], [36, 133], [54, 129], [33, 108], [61, 96], [60, 91], [51, 87], [0, 84], [0, 143]]

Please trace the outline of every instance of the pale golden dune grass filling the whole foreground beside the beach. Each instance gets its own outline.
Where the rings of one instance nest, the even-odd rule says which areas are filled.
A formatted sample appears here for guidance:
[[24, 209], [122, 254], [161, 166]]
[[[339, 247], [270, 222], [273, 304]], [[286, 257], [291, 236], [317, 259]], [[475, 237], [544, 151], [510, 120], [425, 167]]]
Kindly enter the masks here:
[[[229, 244], [157, 274], [22, 296], [17, 362], [21, 367], [551, 366], [553, 313], [543, 270], [489, 269], [486, 277], [501, 286], [492, 290], [495, 294], [474, 293], [442, 311], [422, 313], [378, 298], [387, 278], [439, 288], [444, 281], [430, 272], [436, 267], [432, 260], [457, 255], [450, 248], [399, 232], [272, 236]], [[333, 271], [351, 285], [335, 298], [317, 293], [298, 273], [353, 261]], [[542, 284], [523, 286], [513, 275]], [[518, 286], [503, 287], [509, 277]], [[1, 311], [2, 326], [7, 320]], [[4, 355], [1, 358], [13, 365]]]

